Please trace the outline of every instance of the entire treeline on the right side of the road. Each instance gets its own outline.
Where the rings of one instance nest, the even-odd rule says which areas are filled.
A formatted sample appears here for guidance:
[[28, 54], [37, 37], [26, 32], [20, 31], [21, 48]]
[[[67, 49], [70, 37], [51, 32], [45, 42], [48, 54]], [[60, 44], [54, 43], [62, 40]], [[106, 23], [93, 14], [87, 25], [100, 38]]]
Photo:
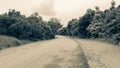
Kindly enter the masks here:
[[67, 27], [59, 30], [58, 34], [80, 38], [104, 39], [108, 42], [120, 45], [120, 6], [111, 7], [101, 11], [88, 9], [79, 19], [72, 19]]

